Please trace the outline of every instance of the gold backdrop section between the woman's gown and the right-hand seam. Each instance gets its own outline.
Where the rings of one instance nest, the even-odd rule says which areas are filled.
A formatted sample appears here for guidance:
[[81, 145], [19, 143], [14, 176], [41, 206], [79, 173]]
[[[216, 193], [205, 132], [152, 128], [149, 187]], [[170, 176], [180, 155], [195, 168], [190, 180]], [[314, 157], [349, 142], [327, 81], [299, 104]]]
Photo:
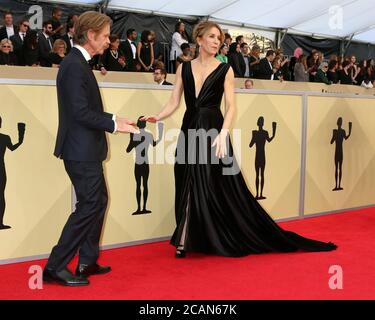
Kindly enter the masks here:
[[[260, 204], [274, 219], [299, 215], [299, 190], [301, 166], [301, 102], [300, 96], [236, 94], [237, 115], [235, 129], [241, 130], [241, 167], [247, 185], [256, 195], [254, 145], [249, 147], [253, 130], [258, 130], [259, 117], [264, 118], [264, 130], [272, 136], [272, 122], [276, 122], [276, 134], [265, 142], [264, 192]], [[233, 137], [234, 138], [234, 137]], [[234, 147], [239, 154], [239, 145]], [[261, 150], [258, 150], [260, 152]]]

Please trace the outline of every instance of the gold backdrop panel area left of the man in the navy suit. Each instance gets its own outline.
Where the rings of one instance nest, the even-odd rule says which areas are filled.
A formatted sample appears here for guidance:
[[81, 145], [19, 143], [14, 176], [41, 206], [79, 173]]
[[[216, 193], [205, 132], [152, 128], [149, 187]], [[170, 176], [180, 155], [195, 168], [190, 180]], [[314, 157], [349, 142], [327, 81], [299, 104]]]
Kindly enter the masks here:
[[18, 142], [18, 123], [25, 138], [5, 151], [7, 184], [0, 260], [48, 254], [57, 242], [71, 208], [71, 185], [63, 163], [53, 156], [57, 130], [56, 88], [1, 85], [0, 133]]

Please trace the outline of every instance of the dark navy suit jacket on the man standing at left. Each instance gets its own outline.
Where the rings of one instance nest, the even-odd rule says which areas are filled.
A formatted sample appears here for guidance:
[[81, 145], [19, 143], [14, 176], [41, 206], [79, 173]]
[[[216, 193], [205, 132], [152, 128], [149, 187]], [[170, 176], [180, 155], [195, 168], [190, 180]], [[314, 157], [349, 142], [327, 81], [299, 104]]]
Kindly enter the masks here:
[[113, 132], [113, 115], [103, 111], [98, 83], [77, 48], [62, 61], [56, 80], [59, 128], [54, 155], [64, 160], [103, 161], [105, 131]]

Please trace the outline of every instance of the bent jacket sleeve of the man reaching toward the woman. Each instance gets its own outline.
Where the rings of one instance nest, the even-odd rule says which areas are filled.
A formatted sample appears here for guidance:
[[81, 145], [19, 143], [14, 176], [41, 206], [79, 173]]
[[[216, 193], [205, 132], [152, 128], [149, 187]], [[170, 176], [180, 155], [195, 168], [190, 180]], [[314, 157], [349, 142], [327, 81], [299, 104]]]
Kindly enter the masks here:
[[90, 109], [88, 97], [86, 96], [86, 93], [90, 92], [87, 79], [85, 79], [86, 72], [83, 70], [82, 65], [77, 63], [69, 65], [66, 70], [66, 92], [71, 97], [69, 103], [72, 109], [72, 116], [85, 127], [112, 133], [115, 129], [112, 115]]

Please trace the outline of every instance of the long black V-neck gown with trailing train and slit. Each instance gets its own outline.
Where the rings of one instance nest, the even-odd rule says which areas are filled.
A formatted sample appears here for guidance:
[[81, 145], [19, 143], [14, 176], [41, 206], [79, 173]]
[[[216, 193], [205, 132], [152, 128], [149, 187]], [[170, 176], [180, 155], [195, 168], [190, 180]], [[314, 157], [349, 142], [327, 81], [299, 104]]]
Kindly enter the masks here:
[[[223, 169], [233, 167], [227, 161], [210, 160], [212, 138], [195, 139], [189, 130], [216, 129], [220, 132], [223, 115], [220, 104], [224, 93], [224, 80], [229, 65], [220, 64], [205, 80], [196, 97], [195, 82], [190, 62], [182, 66], [186, 112], [177, 143], [175, 162], [175, 211], [177, 227], [171, 244], [183, 244], [184, 250], [221, 256], [240, 257], [251, 253], [330, 251], [337, 248], [304, 238], [280, 228], [259, 205], [249, 191], [240, 171], [224, 175]], [[206, 144], [202, 145], [205, 142]], [[203, 151], [202, 151], [203, 150]], [[191, 154], [194, 153], [191, 157]], [[182, 156], [181, 156], [182, 152]], [[207, 152], [207, 164], [199, 162]], [[229, 155], [233, 153], [229, 142]], [[190, 158], [196, 164], [189, 164]], [[178, 161], [177, 159], [185, 159]], [[191, 160], [191, 159], [190, 159]], [[214, 159], [215, 160], [215, 159]], [[223, 159], [225, 160], [225, 159]], [[185, 163], [184, 163], [185, 162]], [[237, 165], [237, 164], [236, 164]]]

